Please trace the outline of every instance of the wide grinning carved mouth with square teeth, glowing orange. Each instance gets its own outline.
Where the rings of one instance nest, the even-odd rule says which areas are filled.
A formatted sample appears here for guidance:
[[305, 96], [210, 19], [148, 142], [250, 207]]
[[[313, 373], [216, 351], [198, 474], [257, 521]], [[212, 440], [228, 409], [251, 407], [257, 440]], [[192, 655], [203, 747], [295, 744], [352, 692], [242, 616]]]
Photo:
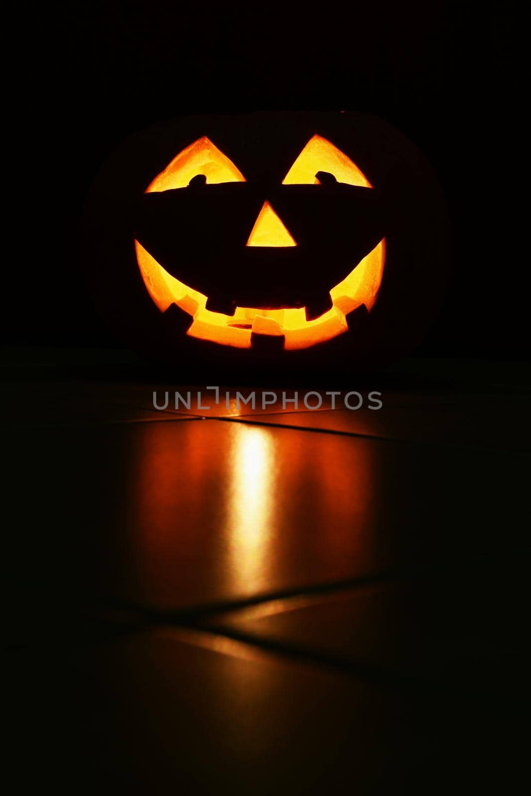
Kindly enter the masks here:
[[206, 295], [170, 275], [138, 240], [135, 240], [135, 249], [147, 291], [161, 312], [175, 304], [190, 316], [186, 334], [236, 348], [251, 348], [252, 334], [283, 337], [284, 349], [295, 350], [309, 348], [346, 332], [346, 315], [362, 304], [369, 312], [372, 310], [385, 265], [383, 238], [329, 295], [318, 296], [314, 306], [280, 310], [236, 306], [233, 314], [228, 314], [210, 309], [211, 302]]

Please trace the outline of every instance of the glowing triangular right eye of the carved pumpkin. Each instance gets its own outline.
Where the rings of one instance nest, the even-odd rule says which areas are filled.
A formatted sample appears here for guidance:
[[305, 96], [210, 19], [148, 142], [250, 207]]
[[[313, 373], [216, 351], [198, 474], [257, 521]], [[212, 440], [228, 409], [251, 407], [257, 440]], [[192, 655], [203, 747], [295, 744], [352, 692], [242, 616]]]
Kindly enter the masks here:
[[361, 188], [372, 188], [365, 174], [357, 168], [350, 158], [347, 158], [333, 143], [323, 139], [321, 135], [314, 135], [307, 142], [291, 169], [283, 178], [283, 185], [320, 185], [316, 178], [319, 172], [333, 174], [338, 182], [346, 185], [359, 185]]

